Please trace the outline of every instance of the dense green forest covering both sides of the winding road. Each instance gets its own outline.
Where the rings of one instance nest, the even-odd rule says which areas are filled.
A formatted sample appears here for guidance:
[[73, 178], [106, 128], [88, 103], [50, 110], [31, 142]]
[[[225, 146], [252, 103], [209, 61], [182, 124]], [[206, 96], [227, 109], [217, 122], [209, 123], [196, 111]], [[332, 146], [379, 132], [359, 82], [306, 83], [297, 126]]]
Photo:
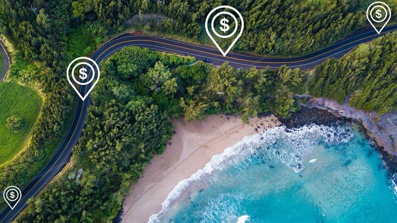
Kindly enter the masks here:
[[[75, 98], [64, 78], [71, 28], [83, 27], [100, 44], [128, 28], [133, 15], [158, 13], [169, 19], [152, 21], [147, 30], [197, 40], [206, 13], [220, 4], [236, 7], [246, 20], [238, 50], [301, 55], [358, 29], [368, 1], [0, 0], [1, 34], [19, 56], [34, 64], [11, 69], [9, 76], [40, 86], [45, 96], [28, 148], [0, 167], [0, 188], [24, 185], [36, 174], [32, 169], [40, 169], [55, 149], [47, 142], [60, 135]], [[266, 111], [288, 117], [298, 109], [293, 95], [304, 93], [338, 102], [350, 95], [350, 105], [360, 109], [396, 110], [396, 40], [396, 34], [388, 35], [340, 61], [329, 59], [313, 75], [285, 66], [235, 70], [227, 63], [219, 68], [203, 62], [191, 65], [190, 57], [126, 48], [101, 64], [103, 77], [92, 92], [72, 165], [29, 201], [17, 221], [114, 218], [129, 184], [172, 136], [170, 117], [192, 120], [233, 113], [247, 121]]]

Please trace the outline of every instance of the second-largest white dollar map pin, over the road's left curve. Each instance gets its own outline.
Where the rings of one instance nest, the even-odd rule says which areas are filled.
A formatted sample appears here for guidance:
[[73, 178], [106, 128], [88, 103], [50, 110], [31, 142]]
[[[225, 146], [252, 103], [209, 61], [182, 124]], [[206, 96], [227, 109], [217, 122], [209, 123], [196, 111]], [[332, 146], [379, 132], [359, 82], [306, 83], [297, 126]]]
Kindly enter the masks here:
[[[70, 71], [70, 67], [73, 68]], [[78, 68], [78, 73], [75, 76], [75, 70]], [[71, 76], [71, 78], [70, 78]], [[81, 100], [85, 100], [98, 83], [100, 77], [100, 70], [95, 60], [89, 57], [78, 57], [73, 59], [66, 70], [66, 78]], [[71, 81], [73, 80], [74, 83]], [[75, 86], [77, 84], [77, 87]]]

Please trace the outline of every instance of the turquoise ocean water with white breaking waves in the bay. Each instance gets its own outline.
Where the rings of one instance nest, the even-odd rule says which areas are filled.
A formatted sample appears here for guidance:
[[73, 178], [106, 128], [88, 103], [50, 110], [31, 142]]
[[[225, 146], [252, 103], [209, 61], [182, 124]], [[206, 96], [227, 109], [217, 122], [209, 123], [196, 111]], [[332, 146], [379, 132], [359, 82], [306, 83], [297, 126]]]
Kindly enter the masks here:
[[357, 129], [281, 126], [245, 137], [181, 181], [150, 222], [397, 223], [397, 187]]

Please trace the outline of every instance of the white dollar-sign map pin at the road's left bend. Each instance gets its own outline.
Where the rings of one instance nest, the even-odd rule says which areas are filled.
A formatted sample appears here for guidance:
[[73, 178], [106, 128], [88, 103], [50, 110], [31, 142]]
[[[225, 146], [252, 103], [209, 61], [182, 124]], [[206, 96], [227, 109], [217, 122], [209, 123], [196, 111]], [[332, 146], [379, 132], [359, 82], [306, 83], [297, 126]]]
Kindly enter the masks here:
[[[73, 65], [73, 64], [74, 64], [76, 61], [78, 61], [78, 60], [82, 60], [82, 61], [76, 63], [76, 64], [73, 66], [73, 68], [71, 69], [71, 73], [69, 73], [69, 70], [70, 70], [71, 65]], [[86, 60], [92, 62], [92, 63], [94, 64], [95, 68], [94, 68], [91, 64], [89, 64], [88, 62], [86, 62]], [[88, 71], [87, 69], [85, 69], [85, 67], [83, 67], [83, 66], [81, 66], [81, 65], [85, 65], [85, 67], [88, 67], [88, 68], [89, 68], [89, 71]], [[81, 73], [81, 74], [84, 74], [84, 73], [87, 74], [87, 77], [86, 77], [87, 81], [84, 82], [84, 80], [85, 80], [85, 79], [84, 79], [84, 80], [82, 80], [82, 81], [80, 82], [80, 81], [78, 81], [78, 80], [74, 77], [74, 70], [75, 70], [78, 66], [81, 66], [80, 70], [81, 70], [82, 68], [85, 69], [85, 70], [83, 70], [83, 72], [80, 71], [80, 73]], [[96, 71], [95, 71], [95, 70], [96, 70]], [[89, 77], [88, 74], [90, 74], [91, 77]], [[74, 83], [76, 83], [76, 84], [78, 84], [78, 85], [80, 85], [80, 86], [88, 85], [88, 84], [92, 83], [92, 82], [94, 81], [94, 79], [95, 79], [95, 82], [92, 83], [90, 89], [88, 89], [88, 91], [85, 92], [84, 95], [81, 95], [80, 92], [78, 91], [78, 89], [74, 86], [74, 83], [71, 81], [70, 75], [71, 75], [71, 77], [72, 77], [71, 79], [74, 81]], [[99, 81], [99, 77], [100, 77], [99, 66], [98, 66], [98, 64], [95, 62], [95, 60], [93, 60], [93, 59], [91, 59], [91, 58], [89, 58], [89, 57], [81, 56], [81, 57], [78, 57], [78, 58], [73, 59], [73, 60], [69, 63], [69, 65], [67, 66], [67, 70], [66, 70], [66, 77], [67, 77], [67, 81], [69, 82], [69, 84], [71, 85], [71, 87], [74, 89], [74, 91], [77, 93], [77, 95], [81, 98], [81, 100], [84, 101], [84, 100], [88, 97], [88, 95], [91, 93], [91, 91], [94, 89], [95, 85], [96, 85], [96, 84], [98, 83], [98, 81]], [[96, 78], [95, 78], [95, 77], [96, 77]]]

